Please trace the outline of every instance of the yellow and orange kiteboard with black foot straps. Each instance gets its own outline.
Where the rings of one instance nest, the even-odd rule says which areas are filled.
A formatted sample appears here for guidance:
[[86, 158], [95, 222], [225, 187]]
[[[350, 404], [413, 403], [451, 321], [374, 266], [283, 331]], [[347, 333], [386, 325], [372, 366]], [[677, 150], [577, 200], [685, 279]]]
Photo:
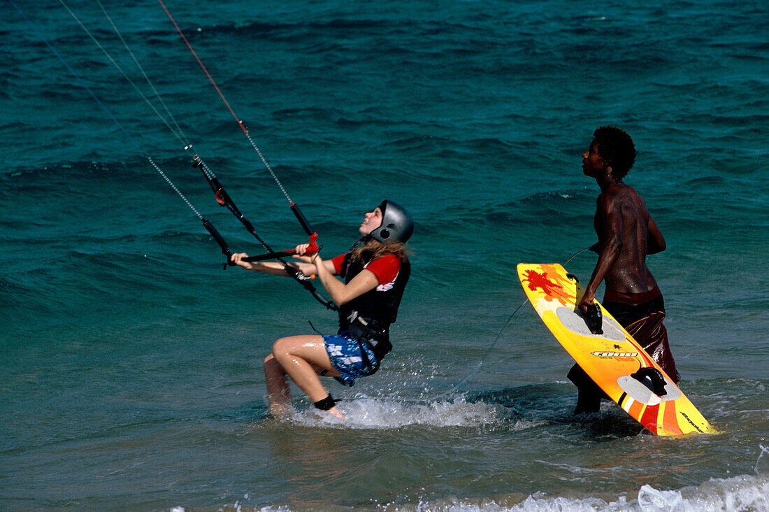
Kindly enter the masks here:
[[588, 320], [576, 307], [584, 288], [564, 267], [520, 263], [518, 277], [555, 339], [611, 400], [635, 420], [658, 436], [716, 432], [603, 306], [599, 305], [603, 333], [591, 333]]

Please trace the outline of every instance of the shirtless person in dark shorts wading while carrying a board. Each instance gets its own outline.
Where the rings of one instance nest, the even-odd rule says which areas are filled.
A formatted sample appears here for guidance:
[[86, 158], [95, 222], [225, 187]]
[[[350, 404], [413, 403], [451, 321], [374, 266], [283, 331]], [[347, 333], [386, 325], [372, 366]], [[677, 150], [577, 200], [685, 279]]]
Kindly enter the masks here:
[[[644, 199], [622, 182], [635, 161], [635, 146], [626, 132], [613, 126], [602, 126], [593, 137], [590, 149], [582, 155], [582, 170], [601, 187], [594, 219], [598, 243], [591, 247], [599, 256], [578, 307], [587, 314], [595, 290], [605, 280], [604, 308], [677, 382], [667, 330], [662, 324], [662, 293], [646, 266], [647, 254], [664, 251], [665, 239]], [[568, 377], [579, 390], [575, 412], [598, 411], [601, 398], [607, 398], [603, 391], [576, 364]]]

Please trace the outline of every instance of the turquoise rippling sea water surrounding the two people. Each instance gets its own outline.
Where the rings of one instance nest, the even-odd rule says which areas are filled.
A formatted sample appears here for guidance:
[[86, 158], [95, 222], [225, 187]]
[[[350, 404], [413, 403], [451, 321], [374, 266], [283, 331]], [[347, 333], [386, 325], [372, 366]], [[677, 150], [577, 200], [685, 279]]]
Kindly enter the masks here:
[[[143, 155], [232, 249], [261, 248], [183, 144], [65, 6], [15, 2], [130, 137], [0, 3], [0, 509], [769, 510], [765, 6], [168, 0], [325, 256], [385, 197], [416, 219], [395, 350], [329, 381], [363, 399], [338, 423], [301, 393], [269, 418], [261, 373], [333, 314], [223, 272]], [[151, 95], [98, 3], [66, 6]], [[258, 233], [303, 241], [161, 6], [104, 7]], [[581, 153], [606, 124], [638, 147], [681, 388], [717, 435], [653, 437], [609, 403], [574, 417], [568, 354], [531, 306], [505, 326], [517, 263], [594, 243]]]

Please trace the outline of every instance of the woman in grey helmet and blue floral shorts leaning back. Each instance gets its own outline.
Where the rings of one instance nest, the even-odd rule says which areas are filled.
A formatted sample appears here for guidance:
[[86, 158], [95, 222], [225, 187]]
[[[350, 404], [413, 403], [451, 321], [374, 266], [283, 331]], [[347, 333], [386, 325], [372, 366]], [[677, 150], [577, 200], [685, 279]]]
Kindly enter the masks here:
[[[273, 415], [285, 416], [291, 404], [288, 375], [315, 407], [344, 418], [318, 376], [332, 376], [352, 386], [356, 378], [375, 373], [392, 349], [389, 328], [411, 273], [404, 244], [413, 230], [414, 223], [403, 207], [385, 200], [365, 214], [358, 227], [361, 239], [348, 253], [324, 260], [318, 253], [306, 253], [309, 244], [296, 246], [295, 258], [301, 262], [289, 264], [305, 276], [318, 276], [339, 306], [339, 331], [333, 336], [288, 336], [273, 343], [264, 363]], [[247, 257], [246, 253], [233, 254], [232, 261], [247, 270], [288, 275], [282, 263], [248, 262]]]

